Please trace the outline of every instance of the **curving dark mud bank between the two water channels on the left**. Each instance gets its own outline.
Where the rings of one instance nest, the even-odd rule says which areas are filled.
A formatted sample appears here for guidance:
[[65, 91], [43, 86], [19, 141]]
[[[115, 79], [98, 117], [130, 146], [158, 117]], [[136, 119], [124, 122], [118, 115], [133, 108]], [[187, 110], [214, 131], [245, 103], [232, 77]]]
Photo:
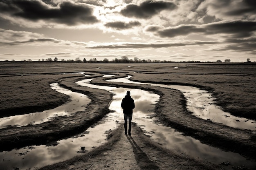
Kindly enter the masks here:
[[54, 121], [43, 124], [4, 128], [0, 130], [0, 151], [31, 145], [54, 145], [57, 140], [72, 137], [85, 131], [110, 113], [111, 110], [108, 109], [108, 106], [112, 100], [112, 95], [106, 91], [81, 88], [74, 83], [77, 79], [77, 77], [63, 79], [60, 84], [72, 91], [88, 95], [92, 102], [88, 104], [86, 110], [70, 117], [56, 117]]

